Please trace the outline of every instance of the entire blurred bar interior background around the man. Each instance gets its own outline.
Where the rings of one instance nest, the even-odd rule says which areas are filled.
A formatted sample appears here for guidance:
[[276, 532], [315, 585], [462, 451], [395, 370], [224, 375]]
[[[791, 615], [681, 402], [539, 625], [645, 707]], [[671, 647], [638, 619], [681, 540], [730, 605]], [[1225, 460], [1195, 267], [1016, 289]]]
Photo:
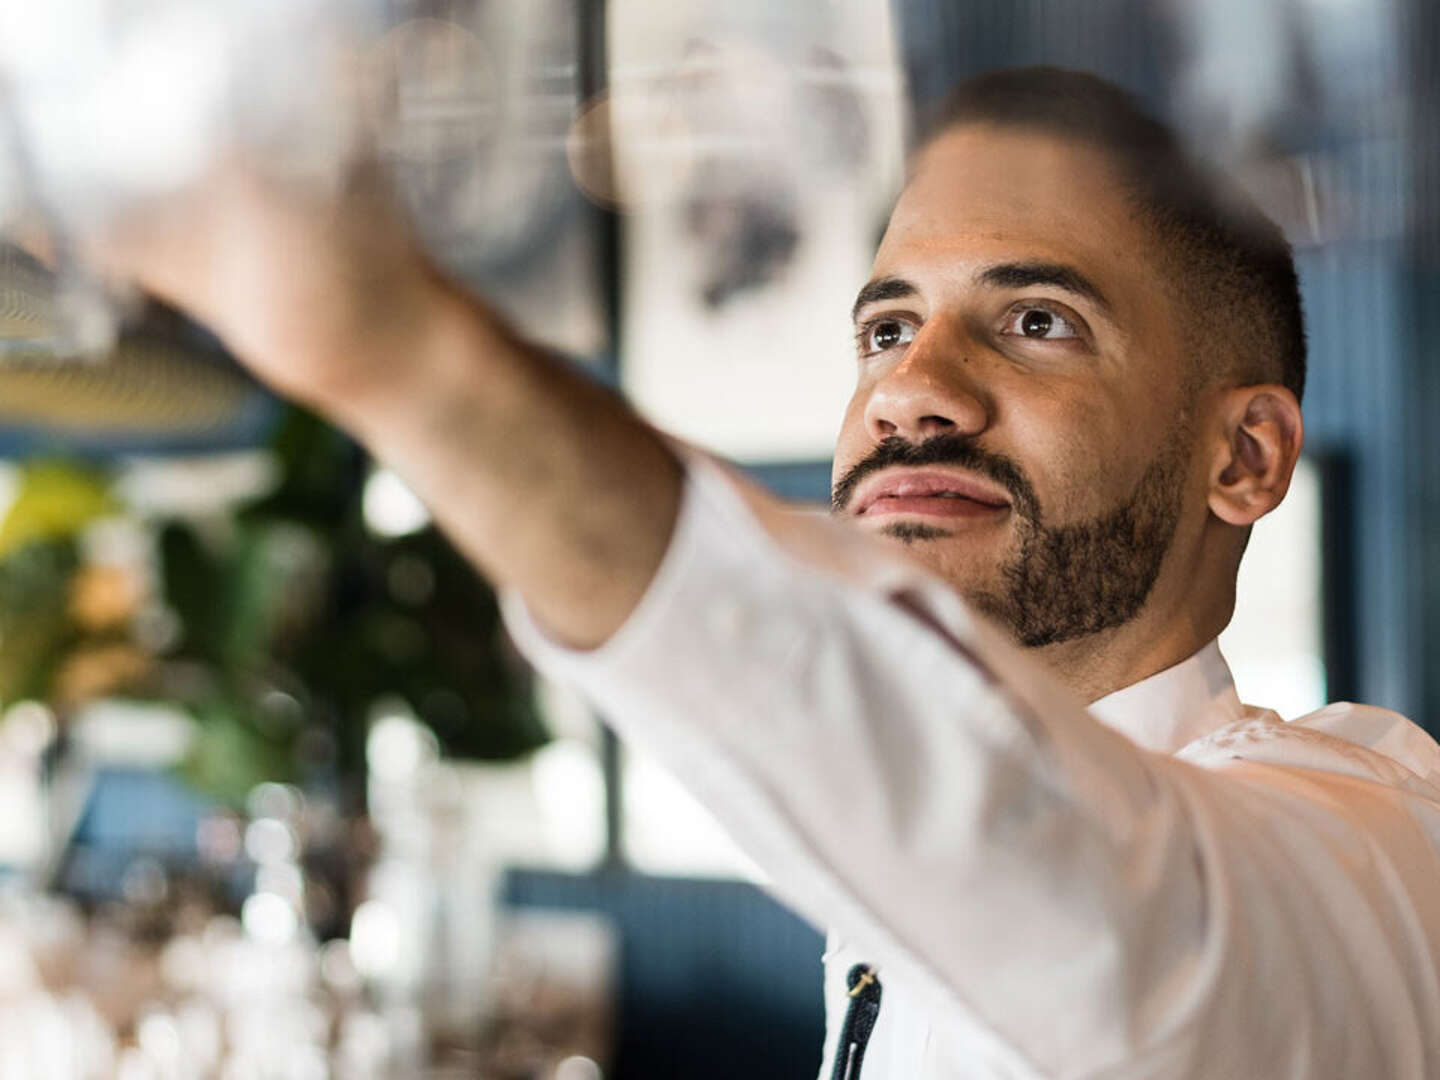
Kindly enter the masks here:
[[56, 256], [0, 248], [0, 1073], [763, 1080], [821, 1045], [818, 932], [524, 668], [384, 462], [91, 279], [76, 226], [229, 138], [307, 183], [367, 141], [459, 279], [819, 504], [913, 118], [995, 66], [1099, 72], [1297, 252], [1308, 454], [1223, 638], [1241, 696], [1436, 732], [1437, 23], [1426, 0], [0, 0], [0, 222]]

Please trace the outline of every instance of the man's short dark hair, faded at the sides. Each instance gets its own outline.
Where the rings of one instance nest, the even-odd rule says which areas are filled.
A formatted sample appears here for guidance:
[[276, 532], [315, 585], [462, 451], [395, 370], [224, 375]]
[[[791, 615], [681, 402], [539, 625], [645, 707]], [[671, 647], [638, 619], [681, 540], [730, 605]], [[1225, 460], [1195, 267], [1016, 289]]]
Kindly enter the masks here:
[[1161, 240], [1197, 379], [1279, 382], [1303, 395], [1305, 318], [1284, 233], [1136, 98], [1086, 72], [1014, 68], [956, 86], [922, 135], [962, 124], [1041, 131], [1104, 153]]

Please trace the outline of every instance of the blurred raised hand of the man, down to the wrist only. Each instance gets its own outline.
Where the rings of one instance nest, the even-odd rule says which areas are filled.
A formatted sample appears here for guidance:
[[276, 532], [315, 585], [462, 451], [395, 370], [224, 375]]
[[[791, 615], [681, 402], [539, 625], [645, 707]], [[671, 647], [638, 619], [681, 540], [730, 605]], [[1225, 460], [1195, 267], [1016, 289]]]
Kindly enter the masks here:
[[340, 190], [230, 161], [82, 238], [105, 275], [215, 330], [282, 393], [334, 406], [383, 392], [444, 284], [374, 170]]

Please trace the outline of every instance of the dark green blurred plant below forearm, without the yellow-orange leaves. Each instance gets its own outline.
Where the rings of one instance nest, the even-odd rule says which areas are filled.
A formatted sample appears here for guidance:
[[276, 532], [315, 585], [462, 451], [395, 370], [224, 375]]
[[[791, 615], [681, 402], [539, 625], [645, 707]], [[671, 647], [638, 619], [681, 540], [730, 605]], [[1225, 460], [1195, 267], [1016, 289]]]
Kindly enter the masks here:
[[374, 536], [364, 459], [317, 418], [288, 413], [274, 448], [278, 487], [228, 528], [160, 533], [180, 624], [170, 693], [202, 720], [192, 779], [235, 795], [307, 770], [357, 778], [367, 714], [396, 696], [452, 756], [541, 746], [530, 675], [484, 580], [435, 528]]

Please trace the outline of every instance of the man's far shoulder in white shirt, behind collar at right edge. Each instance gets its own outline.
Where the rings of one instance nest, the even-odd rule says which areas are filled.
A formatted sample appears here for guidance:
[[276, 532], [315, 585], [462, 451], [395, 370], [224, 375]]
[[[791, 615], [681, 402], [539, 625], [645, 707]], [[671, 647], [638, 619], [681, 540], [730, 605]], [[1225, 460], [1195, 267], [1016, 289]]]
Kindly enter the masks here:
[[1179, 755], [1195, 765], [1284, 765], [1375, 780], [1440, 799], [1440, 744], [1413, 720], [1378, 706], [1338, 701], [1295, 720], [1247, 708]]

